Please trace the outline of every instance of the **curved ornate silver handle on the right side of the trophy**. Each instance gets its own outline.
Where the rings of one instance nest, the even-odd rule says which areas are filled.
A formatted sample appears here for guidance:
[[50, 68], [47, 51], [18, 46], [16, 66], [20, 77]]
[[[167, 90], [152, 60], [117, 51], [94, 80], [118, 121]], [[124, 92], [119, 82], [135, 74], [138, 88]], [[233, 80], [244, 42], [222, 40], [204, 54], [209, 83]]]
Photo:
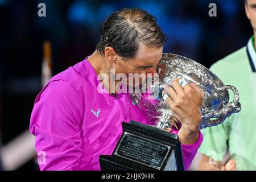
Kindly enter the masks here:
[[[225, 86], [222, 86], [221, 88], [218, 88], [217, 90], [221, 93], [228, 89], [232, 90], [232, 92], [234, 93], [233, 102], [229, 102], [224, 107], [222, 107], [221, 110], [213, 111], [213, 113], [209, 114], [209, 115], [212, 115], [212, 118], [210, 118], [209, 115], [206, 118], [203, 117], [203, 120], [206, 119], [207, 122], [206, 123], [203, 122], [200, 126], [200, 129], [204, 129], [205, 127], [208, 127], [208, 126], [216, 126], [224, 122], [224, 120], [227, 117], [229, 117], [231, 114], [238, 113], [241, 110], [241, 104], [239, 102], [239, 99], [240, 99], [239, 93], [234, 86], [225, 85]], [[216, 118], [216, 116], [218, 117]], [[213, 119], [213, 118], [216, 118], [216, 119]]]

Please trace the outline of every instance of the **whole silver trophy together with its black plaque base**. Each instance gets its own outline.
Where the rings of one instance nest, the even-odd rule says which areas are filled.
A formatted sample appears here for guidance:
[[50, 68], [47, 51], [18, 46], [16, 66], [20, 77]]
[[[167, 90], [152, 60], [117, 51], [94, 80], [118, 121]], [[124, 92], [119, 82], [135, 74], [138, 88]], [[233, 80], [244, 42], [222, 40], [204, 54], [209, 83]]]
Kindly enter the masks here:
[[[131, 94], [133, 102], [146, 112], [155, 126], [123, 122], [123, 134], [113, 154], [100, 156], [102, 170], [184, 170], [179, 138], [170, 133], [170, 130], [179, 131], [181, 123], [167, 104], [170, 96], [164, 92], [164, 85], [171, 86], [174, 80], [179, 80], [182, 87], [195, 82], [204, 93], [200, 130], [219, 125], [241, 110], [237, 89], [224, 85], [213, 72], [196, 61], [163, 53], [156, 71], [158, 79], [147, 90], [150, 94]], [[231, 102], [228, 90], [233, 92]]]

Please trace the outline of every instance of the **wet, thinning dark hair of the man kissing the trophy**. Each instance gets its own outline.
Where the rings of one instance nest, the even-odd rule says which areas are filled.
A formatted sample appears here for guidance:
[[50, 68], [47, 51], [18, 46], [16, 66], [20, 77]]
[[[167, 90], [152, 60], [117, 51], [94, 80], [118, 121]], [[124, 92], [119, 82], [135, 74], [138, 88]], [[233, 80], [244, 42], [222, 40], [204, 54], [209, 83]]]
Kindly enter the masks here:
[[160, 48], [166, 40], [153, 15], [141, 9], [122, 9], [108, 16], [102, 24], [101, 40], [96, 49], [104, 55], [105, 48], [110, 46], [123, 59], [132, 59], [139, 43]]

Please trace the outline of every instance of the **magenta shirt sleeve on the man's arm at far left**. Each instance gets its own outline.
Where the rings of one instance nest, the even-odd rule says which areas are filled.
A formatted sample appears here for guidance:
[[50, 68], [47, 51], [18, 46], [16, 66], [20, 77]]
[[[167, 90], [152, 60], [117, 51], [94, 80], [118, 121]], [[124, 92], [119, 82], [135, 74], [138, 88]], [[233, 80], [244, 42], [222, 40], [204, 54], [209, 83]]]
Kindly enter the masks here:
[[81, 156], [79, 97], [62, 80], [51, 81], [38, 94], [30, 132], [41, 170], [77, 170]]

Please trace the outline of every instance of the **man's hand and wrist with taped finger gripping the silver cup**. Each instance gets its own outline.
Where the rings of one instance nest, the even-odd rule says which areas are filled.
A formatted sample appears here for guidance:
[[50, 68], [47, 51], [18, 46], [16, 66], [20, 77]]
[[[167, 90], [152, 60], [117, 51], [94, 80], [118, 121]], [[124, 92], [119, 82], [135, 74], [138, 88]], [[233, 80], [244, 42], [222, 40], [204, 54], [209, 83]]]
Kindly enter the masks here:
[[179, 139], [183, 144], [195, 143], [198, 139], [201, 122], [201, 105], [204, 93], [194, 82], [181, 87], [177, 80], [171, 83], [165, 91], [169, 94], [167, 99], [170, 109], [181, 122]]

